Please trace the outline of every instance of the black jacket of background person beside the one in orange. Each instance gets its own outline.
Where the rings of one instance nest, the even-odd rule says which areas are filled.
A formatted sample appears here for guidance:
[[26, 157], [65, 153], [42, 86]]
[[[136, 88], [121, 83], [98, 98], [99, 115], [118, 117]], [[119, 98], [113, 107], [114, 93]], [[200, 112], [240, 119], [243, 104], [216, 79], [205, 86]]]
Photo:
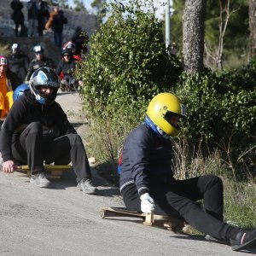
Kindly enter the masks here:
[[9, 60], [9, 69], [13, 73], [16, 73], [17, 77], [24, 82], [26, 79], [27, 68], [29, 65], [28, 56], [23, 54], [16, 54], [16, 55], [9, 56], [8, 60]]

